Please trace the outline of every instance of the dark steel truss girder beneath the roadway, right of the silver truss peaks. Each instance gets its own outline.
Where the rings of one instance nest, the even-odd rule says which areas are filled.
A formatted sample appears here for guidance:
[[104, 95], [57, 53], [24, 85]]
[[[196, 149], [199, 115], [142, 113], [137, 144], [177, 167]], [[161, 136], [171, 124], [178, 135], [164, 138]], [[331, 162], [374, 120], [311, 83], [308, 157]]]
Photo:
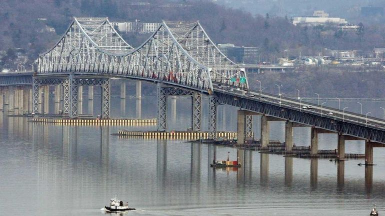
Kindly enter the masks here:
[[385, 144], [385, 131], [381, 131], [375, 128], [343, 122], [325, 116], [300, 112], [298, 110], [279, 107], [273, 104], [254, 101], [247, 98], [226, 95], [220, 92], [216, 92], [215, 94], [217, 95], [219, 104], [227, 104], [230, 106], [239, 107], [243, 110], [280, 118], [282, 120], [289, 120], [291, 122], [297, 122], [304, 125], [333, 131], [338, 134], [349, 135], [371, 142]]

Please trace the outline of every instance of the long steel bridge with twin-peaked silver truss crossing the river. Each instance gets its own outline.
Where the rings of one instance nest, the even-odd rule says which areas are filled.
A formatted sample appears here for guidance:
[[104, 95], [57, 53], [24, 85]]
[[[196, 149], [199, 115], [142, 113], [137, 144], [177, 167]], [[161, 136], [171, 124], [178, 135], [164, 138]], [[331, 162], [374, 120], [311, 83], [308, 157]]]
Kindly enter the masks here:
[[[23, 85], [19, 80], [31, 76], [12, 75], [0, 76], [0, 85]], [[12, 78], [17, 81], [12, 83]], [[252, 136], [252, 116], [255, 115], [261, 116], [262, 148], [267, 148], [269, 143], [270, 121], [286, 122], [286, 152], [292, 149], [293, 127], [311, 127], [310, 149], [314, 157], [321, 133], [338, 134], [339, 160], [344, 159], [345, 140], [365, 141], [366, 164], [373, 163], [373, 147], [385, 144], [385, 122], [381, 119], [305, 104], [281, 95], [262, 94], [262, 89], [250, 88], [244, 68], [224, 56], [197, 21], [162, 21], [146, 41], [133, 48], [107, 18], [74, 17], [61, 39], [38, 58], [37, 70], [32, 76], [32, 112], [42, 113], [41, 89], [47, 95], [46, 87], [54, 85], [55, 95], [63, 100], [63, 114], [78, 118], [82, 87], [99, 86], [101, 115], [109, 118], [111, 78], [156, 84], [158, 131], [167, 130], [166, 101], [171, 95], [192, 98], [191, 125], [194, 131], [200, 131], [201, 101], [202, 96], [207, 96], [210, 138], [215, 138], [217, 106], [230, 105], [240, 109], [239, 144]], [[302, 108], [309, 105], [311, 109]]]

